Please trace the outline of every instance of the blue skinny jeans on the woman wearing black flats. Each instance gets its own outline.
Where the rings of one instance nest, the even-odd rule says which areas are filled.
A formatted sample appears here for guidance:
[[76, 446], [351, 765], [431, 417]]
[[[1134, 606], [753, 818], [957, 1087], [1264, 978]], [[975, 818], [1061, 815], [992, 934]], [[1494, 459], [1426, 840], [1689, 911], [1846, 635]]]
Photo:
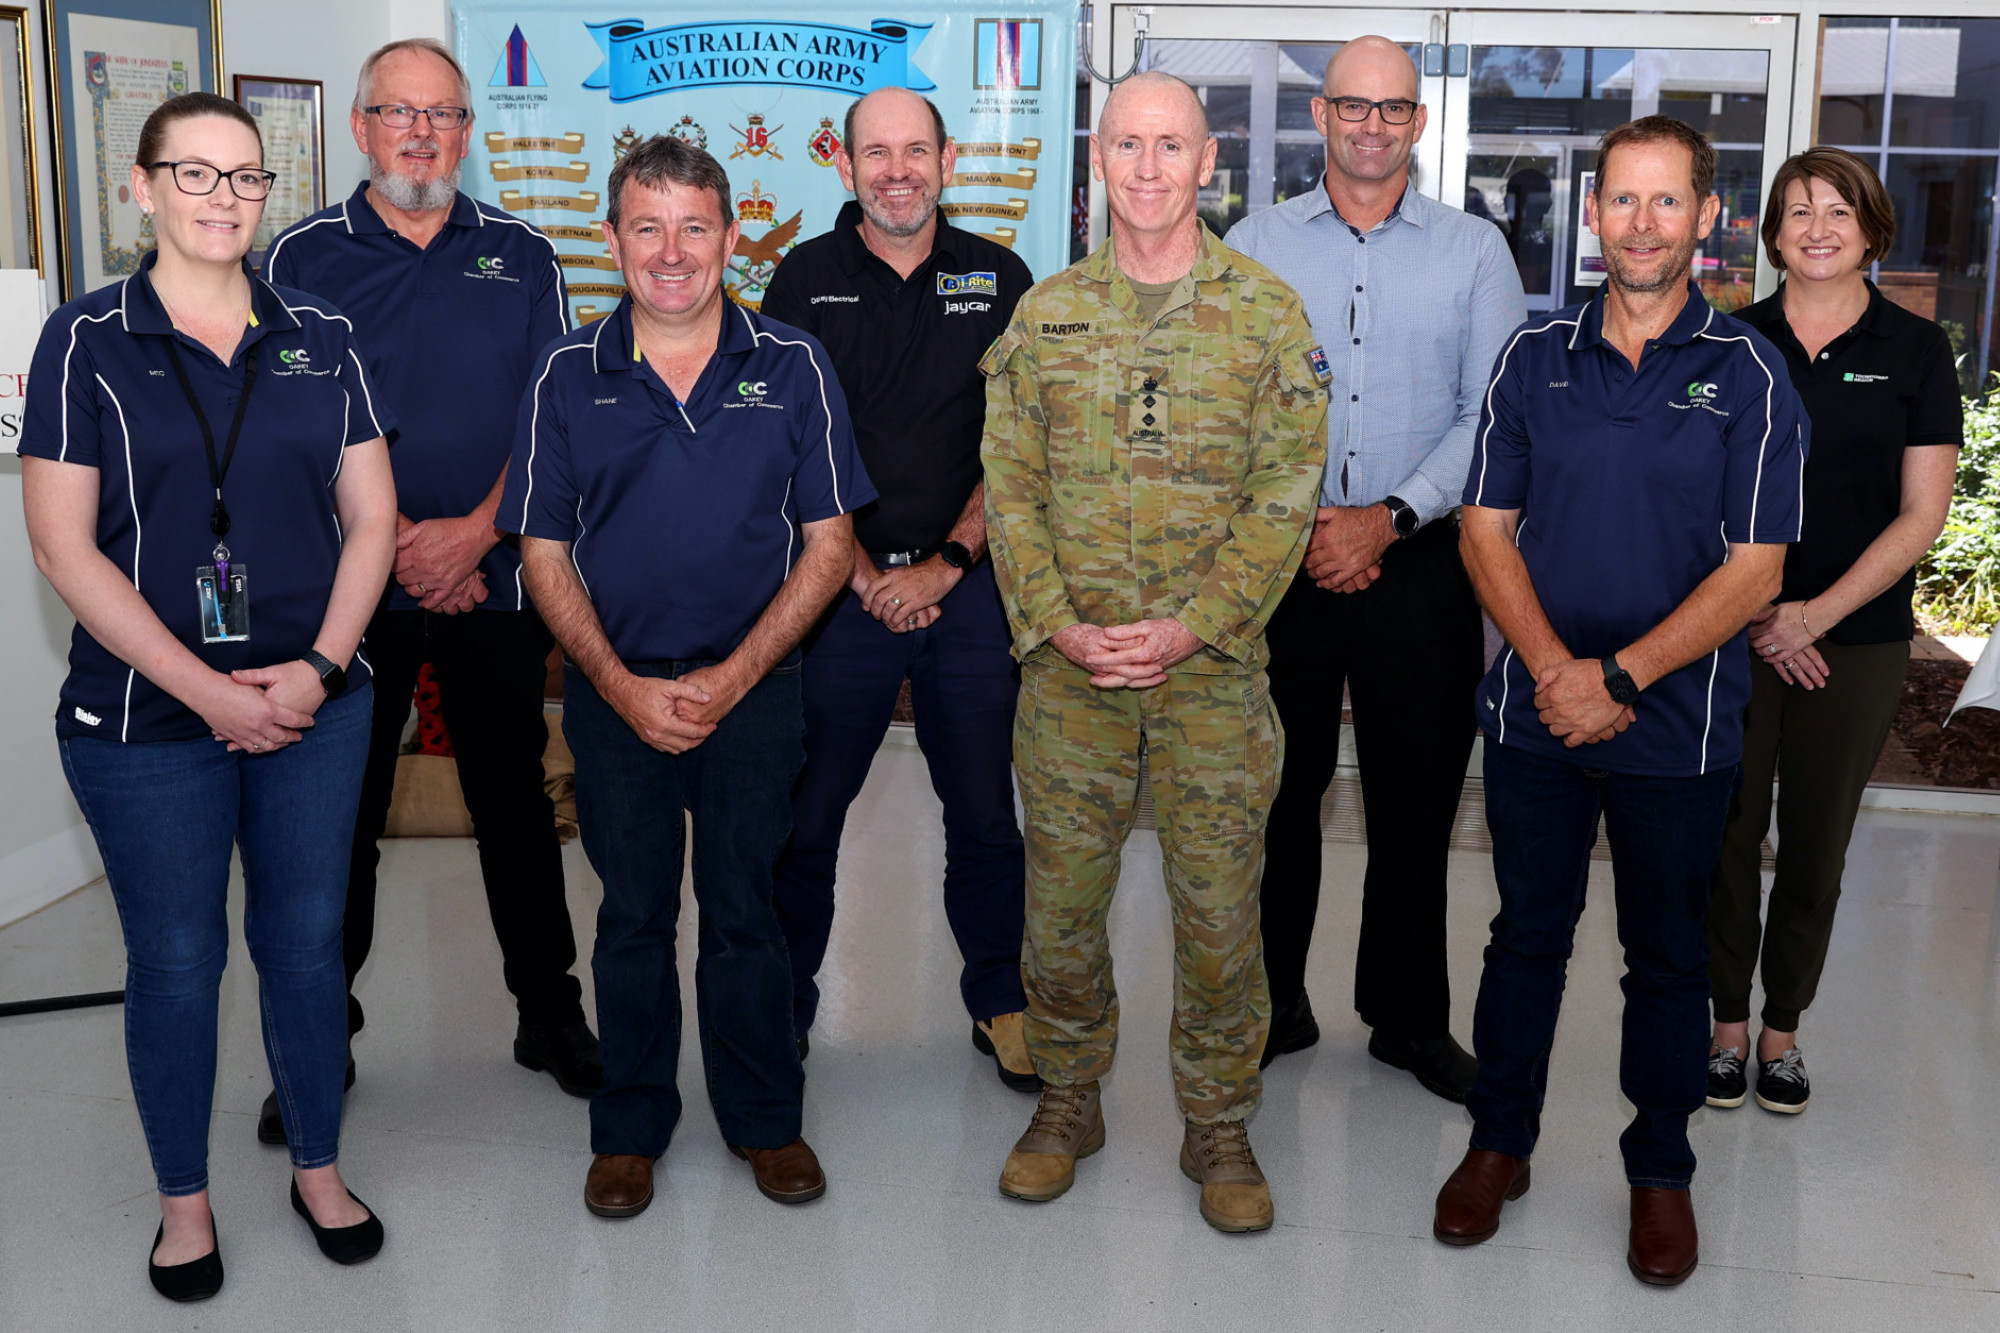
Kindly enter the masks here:
[[330, 699], [302, 741], [272, 755], [232, 755], [218, 741], [58, 743], [124, 929], [126, 1065], [162, 1195], [208, 1189], [234, 847], [292, 1165], [340, 1155], [340, 913], [372, 707], [368, 685]]

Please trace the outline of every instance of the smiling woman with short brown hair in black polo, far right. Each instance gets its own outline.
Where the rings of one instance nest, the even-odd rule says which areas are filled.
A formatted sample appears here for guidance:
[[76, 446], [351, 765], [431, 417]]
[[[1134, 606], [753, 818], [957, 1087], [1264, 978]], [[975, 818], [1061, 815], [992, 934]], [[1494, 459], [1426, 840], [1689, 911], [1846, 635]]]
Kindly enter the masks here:
[[[1798, 1019], [1820, 985], [1848, 837], [1902, 699], [1914, 564], [1952, 502], [1962, 412], [1950, 338], [1866, 276], [1894, 232], [1888, 192], [1866, 162], [1838, 148], [1790, 158], [1764, 210], [1764, 250], [1786, 280], [1738, 312], [1784, 354], [1812, 418], [1812, 452], [1784, 590], [1750, 628], [1764, 666], [1708, 907], [1710, 1107], [1740, 1107], [1750, 1093], [1750, 977], [1762, 943], [1756, 1101], [1806, 1109]], [[1774, 775], [1778, 875], [1760, 923]]]

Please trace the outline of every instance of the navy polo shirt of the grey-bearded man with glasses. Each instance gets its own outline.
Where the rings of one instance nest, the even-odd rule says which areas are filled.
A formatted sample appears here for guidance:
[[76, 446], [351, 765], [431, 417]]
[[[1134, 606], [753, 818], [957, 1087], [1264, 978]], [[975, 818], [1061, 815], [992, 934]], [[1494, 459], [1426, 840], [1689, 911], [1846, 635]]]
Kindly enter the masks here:
[[[396, 508], [460, 518], [492, 490], [514, 448], [528, 372], [570, 328], [556, 244], [464, 194], [432, 242], [392, 232], [368, 184], [280, 234], [264, 276], [336, 302], [360, 332], [368, 370], [396, 412]], [[482, 610], [522, 610], [520, 552], [480, 560]], [[390, 606], [418, 602], [390, 582]]]

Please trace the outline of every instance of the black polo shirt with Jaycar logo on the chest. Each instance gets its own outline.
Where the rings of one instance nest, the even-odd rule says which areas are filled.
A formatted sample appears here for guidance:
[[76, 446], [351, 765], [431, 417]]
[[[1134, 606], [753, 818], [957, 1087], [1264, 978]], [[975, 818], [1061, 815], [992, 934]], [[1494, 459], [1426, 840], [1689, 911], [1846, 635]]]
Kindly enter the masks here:
[[848, 200], [834, 230], [792, 250], [762, 312], [826, 344], [854, 440], [882, 492], [854, 514], [868, 550], [934, 548], [980, 484], [986, 378], [980, 356], [1034, 286], [1028, 264], [938, 214], [930, 258], [902, 278], [862, 244]]

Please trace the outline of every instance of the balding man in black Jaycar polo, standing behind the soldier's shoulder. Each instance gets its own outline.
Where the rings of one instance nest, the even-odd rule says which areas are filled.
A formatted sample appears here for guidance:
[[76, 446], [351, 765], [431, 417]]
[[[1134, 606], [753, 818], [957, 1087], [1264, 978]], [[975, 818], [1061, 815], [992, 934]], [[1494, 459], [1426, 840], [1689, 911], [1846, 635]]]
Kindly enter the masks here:
[[762, 312], [834, 358], [868, 476], [854, 578], [806, 644], [806, 771], [778, 865], [800, 1049], [834, 923], [848, 805], [888, 731], [904, 677], [916, 739], [944, 803], [944, 913], [964, 967], [972, 1045], [1020, 1091], [1038, 1081], [1020, 1037], [1022, 843], [1010, 745], [1018, 671], [986, 560], [980, 354], [1034, 278], [1012, 250], [938, 212], [954, 148], [944, 118], [904, 88], [848, 108], [840, 180], [854, 202], [798, 246]]

